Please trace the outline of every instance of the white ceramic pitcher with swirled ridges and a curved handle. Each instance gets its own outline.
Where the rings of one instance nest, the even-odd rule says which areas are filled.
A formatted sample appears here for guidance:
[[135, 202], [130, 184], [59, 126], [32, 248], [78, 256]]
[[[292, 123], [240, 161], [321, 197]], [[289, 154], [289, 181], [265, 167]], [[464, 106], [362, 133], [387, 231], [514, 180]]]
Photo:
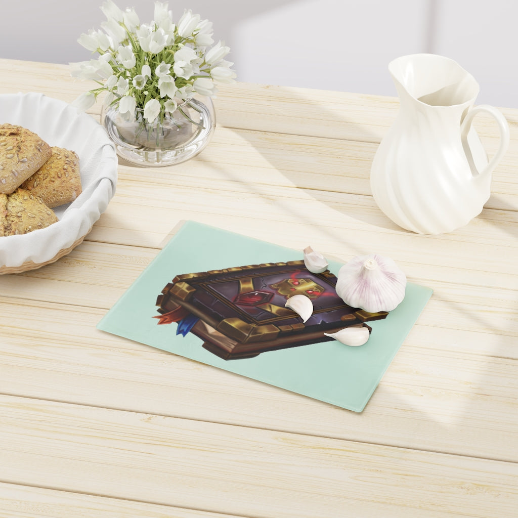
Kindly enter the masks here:
[[[473, 107], [477, 81], [447, 57], [402, 56], [389, 71], [400, 108], [372, 162], [372, 195], [403, 228], [451, 232], [478, 215], [490, 197], [491, 172], [509, 145], [509, 126], [492, 106]], [[471, 126], [479, 112], [490, 113], [500, 130], [490, 161]]]

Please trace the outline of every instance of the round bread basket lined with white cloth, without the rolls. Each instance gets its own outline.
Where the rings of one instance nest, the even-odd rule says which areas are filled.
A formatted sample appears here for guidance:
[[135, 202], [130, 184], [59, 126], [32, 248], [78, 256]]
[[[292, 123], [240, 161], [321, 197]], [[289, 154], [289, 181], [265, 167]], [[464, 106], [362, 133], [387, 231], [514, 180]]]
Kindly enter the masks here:
[[80, 244], [110, 202], [117, 184], [117, 154], [104, 127], [87, 113], [39, 93], [0, 95], [0, 124], [26, 127], [50, 146], [79, 155], [82, 193], [56, 207], [52, 225], [0, 237], [0, 275], [57, 261]]

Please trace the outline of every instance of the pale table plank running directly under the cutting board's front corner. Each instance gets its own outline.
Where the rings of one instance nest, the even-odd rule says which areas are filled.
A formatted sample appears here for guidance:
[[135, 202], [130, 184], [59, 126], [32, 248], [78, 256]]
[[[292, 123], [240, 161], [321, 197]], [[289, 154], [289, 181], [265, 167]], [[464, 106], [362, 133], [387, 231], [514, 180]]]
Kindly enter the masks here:
[[[433, 333], [423, 340], [429, 327], [415, 326], [358, 418], [101, 332], [95, 325], [104, 312], [95, 308], [22, 307], [4, 299], [0, 310], [9, 320], [27, 315], [24, 332], [4, 327], [0, 393], [518, 462], [515, 359], [495, 357], [500, 340], [487, 344], [486, 355], [474, 356], [472, 334], [464, 348], [449, 341], [438, 348]], [[514, 342], [509, 340], [510, 351]], [[466, 436], [473, 428], [477, 435]]]

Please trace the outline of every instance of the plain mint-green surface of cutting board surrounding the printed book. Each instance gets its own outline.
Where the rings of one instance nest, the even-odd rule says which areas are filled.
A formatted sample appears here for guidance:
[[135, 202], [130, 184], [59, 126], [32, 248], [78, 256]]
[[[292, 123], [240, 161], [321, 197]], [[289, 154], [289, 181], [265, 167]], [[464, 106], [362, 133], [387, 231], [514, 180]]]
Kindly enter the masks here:
[[[193, 221], [185, 222], [97, 327], [197, 362], [361, 412], [425, 307], [431, 289], [408, 283], [402, 303], [385, 320], [369, 322], [372, 334], [363, 346], [321, 342], [230, 361], [205, 350], [203, 341], [192, 333], [185, 337], [176, 335], [177, 324], [157, 325], [157, 319], [152, 318], [159, 314], [156, 297], [176, 275], [302, 258], [303, 253], [299, 250]], [[332, 263], [329, 270], [337, 275], [340, 266]], [[171, 397], [175, 395], [171, 394]]]

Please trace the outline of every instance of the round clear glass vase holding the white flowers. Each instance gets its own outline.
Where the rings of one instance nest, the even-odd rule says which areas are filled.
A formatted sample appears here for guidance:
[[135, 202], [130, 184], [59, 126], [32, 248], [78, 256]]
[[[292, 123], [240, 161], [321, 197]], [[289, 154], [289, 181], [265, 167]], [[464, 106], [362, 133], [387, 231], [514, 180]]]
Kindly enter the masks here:
[[[132, 164], [161, 167], [192, 159], [209, 143], [216, 125], [210, 97], [184, 100], [151, 124], [135, 109], [134, 120], [122, 117], [117, 107], [103, 108], [102, 123], [117, 154]], [[162, 119], [162, 120], [161, 120]]]

